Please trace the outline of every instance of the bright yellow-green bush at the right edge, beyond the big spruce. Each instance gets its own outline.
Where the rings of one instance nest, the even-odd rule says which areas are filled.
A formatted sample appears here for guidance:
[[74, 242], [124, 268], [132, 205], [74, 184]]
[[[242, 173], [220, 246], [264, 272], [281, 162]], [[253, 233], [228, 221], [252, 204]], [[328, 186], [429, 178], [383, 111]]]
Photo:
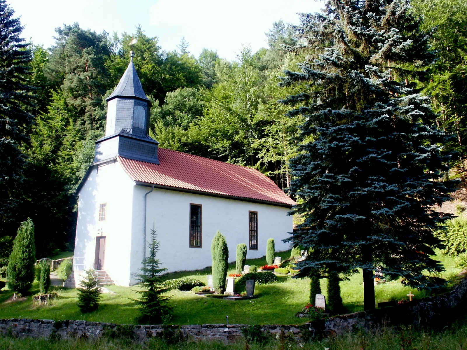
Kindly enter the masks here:
[[453, 256], [467, 252], [467, 218], [463, 215], [446, 221], [443, 230], [435, 235], [446, 245], [446, 254]]

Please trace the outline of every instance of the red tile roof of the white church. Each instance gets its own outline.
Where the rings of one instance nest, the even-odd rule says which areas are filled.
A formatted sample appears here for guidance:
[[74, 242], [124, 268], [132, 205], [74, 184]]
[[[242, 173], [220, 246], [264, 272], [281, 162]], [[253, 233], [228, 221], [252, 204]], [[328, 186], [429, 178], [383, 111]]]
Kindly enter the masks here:
[[255, 169], [165, 148], [159, 148], [158, 157], [160, 164], [123, 157], [118, 157], [118, 161], [137, 182], [290, 207], [296, 204]]

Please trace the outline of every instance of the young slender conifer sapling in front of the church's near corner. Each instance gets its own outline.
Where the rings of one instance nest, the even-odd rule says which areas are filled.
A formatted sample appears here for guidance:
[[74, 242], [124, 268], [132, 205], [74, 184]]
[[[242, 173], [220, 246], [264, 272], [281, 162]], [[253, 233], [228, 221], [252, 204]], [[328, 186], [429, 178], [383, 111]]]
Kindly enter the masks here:
[[156, 259], [160, 245], [156, 239], [156, 229], [152, 228], [150, 234], [149, 255], [143, 260], [143, 267], [140, 268], [142, 273], [138, 274], [136, 278], [142, 288], [141, 291], [138, 291], [141, 298], [136, 302], [140, 307], [140, 322], [162, 323], [170, 316], [171, 312], [168, 305], [171, 297], [163, 295], [170, 288], [165, 285], [161, 277], [161, 274], [167, 269], [159, 267], [161, 263]]

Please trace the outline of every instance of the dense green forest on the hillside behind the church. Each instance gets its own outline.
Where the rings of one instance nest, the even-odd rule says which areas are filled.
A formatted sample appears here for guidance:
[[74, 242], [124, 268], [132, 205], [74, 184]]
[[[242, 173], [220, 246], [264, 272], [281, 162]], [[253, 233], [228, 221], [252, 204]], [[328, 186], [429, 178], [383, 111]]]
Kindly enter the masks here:
[[[395, 65], [391, 79], [431, 98], [432, 122], [453, 135], [447, 146], [457, 155], [450, 165], [464, 168], [467, 3], [413, 0], [408, 6], [420, 28], [412, 39], [428, 42], [430, 50], [417, 58], [422, 52], [414, 45], [415, 63]], [[309, 119], [301, 108], [331, 100], [332, 108], [359, 108], [345, 98], [352, 96], [351, 84], [347, 91], [339, 87], [343, 97], [337, 86], [323, 81], [287, 83], [288, 72], [303, 70], [333, 46], [332, 39], [312, 37], [311, 28], [327, 30], [321, 14], [299, 14], [297, 26], [278, 19], [265, 33], [267, 47], [238, 48], [237, 59], [227, 61], [209, 49], [195, 57], [184, 40], [177, 51], [166, 51], [141, 26], [134, 33], [109, 35], [78, 23], [64, 25], [46, 49], [22, 39], [21, 23], [5, 0], [0, 12], [0, 80], [9, 82], [0, 86], [0, 266], [16, 228], [28, 217], [35, 223], [38, 258], [72, 249], [74, 191], [92, 162], [94, 141], [104, 134], [105, 98], [126, 69], [130, 50], [153, 104], [150, 134], [160, 147], [254, 167], [284, 191], [291, 181], [289, 161], [300, 143], [315, 137], [301, 135], [299, 126]], [[401, 28], [411, 30], [409, 24]], [[327, 91], [320, 96], [328, 100], [313, 101], [318, 91]]]

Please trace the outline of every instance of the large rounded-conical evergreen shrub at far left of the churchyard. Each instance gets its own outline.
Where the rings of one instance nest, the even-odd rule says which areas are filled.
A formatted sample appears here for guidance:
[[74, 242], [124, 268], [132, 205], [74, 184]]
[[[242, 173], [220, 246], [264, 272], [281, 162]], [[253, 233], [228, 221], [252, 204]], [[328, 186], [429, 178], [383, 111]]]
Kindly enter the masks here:
[[8, 288], [25, 293], [35, 277], [34, 224], [31, 219], [23, 221], [13, 241], [13, 251], [8, 259]]

